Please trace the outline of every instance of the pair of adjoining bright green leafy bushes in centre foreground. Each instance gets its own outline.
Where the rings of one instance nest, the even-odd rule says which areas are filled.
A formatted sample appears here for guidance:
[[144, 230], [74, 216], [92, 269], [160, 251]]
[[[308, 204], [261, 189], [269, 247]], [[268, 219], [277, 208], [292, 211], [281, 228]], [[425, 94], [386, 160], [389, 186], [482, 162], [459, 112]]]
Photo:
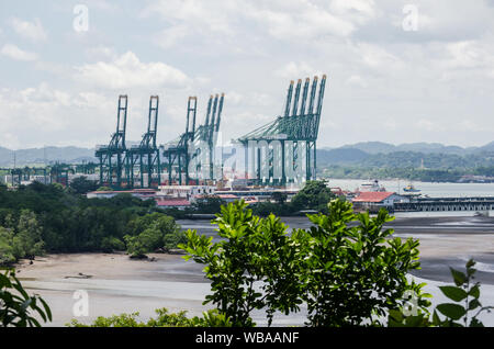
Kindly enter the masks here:
[[311, 326], [382, 325], [407, 290], [420, 295], [420, 307], [429, 304], [423, 284], [406, 279], [419, 267], [418, 241], [386, 239], [393, 230], [382, 229], [392, 219], [384, 210], [375, 218], [356, 215], [340, 200], [327, 210], [328, 215], [308, 215], [311, 229], [289, 236], [276, 216], [259, 218], [235, 202], [213, 221], [224, 240], [213, 244], [212, 237], [187, 232], [184, 258], [205, 264], [211, 280], [213, 294], [204, 304], [216, 304], [235, 326], [254, 325], [250, 312], [261, 308], [271, 324], [276, 311], [296, 312], [303, 302]]

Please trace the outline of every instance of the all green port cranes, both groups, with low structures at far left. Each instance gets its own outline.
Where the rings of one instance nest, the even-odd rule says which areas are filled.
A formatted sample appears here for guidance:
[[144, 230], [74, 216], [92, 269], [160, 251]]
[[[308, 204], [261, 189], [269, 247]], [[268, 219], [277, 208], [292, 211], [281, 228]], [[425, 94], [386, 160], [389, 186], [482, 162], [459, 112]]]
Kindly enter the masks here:
[[[247, 169], [247, 185], [301, 185], [315, 179], [316, 142], [325, 87], [326, 76], [314, 77], [312, 83], [310, 78], [304, 83], [302, 80], [291, 81], [282, 115], [236, 139], [245, 155], [242, 161], [245, 160]], [[160, 185], [215, 185], [224, 179], [224, 153], [222, 150], [218, 157], [216, 147], [224, 99], [224, 93], [211, 95], [204, 122], [198, 125], [198, 98], [189, 97], [184, 133], [158, 145], [159, 97], [151, 95], [147, 130], [139, 144], [128, 147], [128, 97], [120, 95], [116, 130], [106, 145], [97, 146], [98, 164], [55, 164], [42, 171], [43, 181], [68, 185], [70, 178], [83, 173], [99, 178], [100, 187], [115, 191], [158, 189]], [[42, 176], [42, 172], [37, 169], [33, 174]], [[13, 169], [12, 184], [20, 184], [29, 174], [27, 170]]]

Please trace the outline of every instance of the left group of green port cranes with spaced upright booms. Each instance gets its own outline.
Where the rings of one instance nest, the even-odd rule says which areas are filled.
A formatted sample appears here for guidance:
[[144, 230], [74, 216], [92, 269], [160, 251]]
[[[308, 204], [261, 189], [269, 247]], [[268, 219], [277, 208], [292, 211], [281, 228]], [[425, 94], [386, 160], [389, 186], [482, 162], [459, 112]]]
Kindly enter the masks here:
[[[120, 95], [116, 131], [108, 145], [98, 146], [100, 185], [114, 190], [155, 188], [212, 180], [213, 149], [220, 130], [224, 94], [211, 97], [205, 123], [195, 126], [198, 98], [187, 105], [186, 132], [164, 146], [157, 144], [159, 97], [149, 99], [147, 132], [138, 145], [127, 147], [127, 95]], [[162, 151], [162, 153], [161, 153]], [[162, 155], [162, 157], [161, 157]], [[204, 171], [207, 169], [207, 172]], [[205, 173], [205, 174], [204, 174]]]

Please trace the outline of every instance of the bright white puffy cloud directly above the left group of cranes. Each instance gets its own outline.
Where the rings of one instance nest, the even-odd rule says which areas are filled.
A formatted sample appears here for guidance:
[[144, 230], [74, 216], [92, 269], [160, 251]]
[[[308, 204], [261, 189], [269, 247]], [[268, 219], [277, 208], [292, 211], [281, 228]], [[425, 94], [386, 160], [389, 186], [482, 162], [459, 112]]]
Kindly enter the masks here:
[[111, 63], [98, 61], [75, 68], [76, 80], [108, 89], [135, 87], [186, 87], [189, 78], [164, 63], [143, 63], [127, 52]]

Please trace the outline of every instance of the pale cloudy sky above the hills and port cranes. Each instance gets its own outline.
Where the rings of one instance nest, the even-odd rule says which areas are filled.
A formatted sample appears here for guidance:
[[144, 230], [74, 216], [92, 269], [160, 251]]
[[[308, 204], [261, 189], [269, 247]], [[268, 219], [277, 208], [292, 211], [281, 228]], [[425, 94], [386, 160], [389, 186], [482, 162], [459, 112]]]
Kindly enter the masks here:
[[[87, 14], [87, 15], [86, 15]], [[319, 147], [494, 140], [494, 1], [46, 0], [0, 3], [0, 146], [93, 147], [128, 94], [127, 139], [160, 97], [159, 143], [225, 92], [232, 139], [327, 74]]]

